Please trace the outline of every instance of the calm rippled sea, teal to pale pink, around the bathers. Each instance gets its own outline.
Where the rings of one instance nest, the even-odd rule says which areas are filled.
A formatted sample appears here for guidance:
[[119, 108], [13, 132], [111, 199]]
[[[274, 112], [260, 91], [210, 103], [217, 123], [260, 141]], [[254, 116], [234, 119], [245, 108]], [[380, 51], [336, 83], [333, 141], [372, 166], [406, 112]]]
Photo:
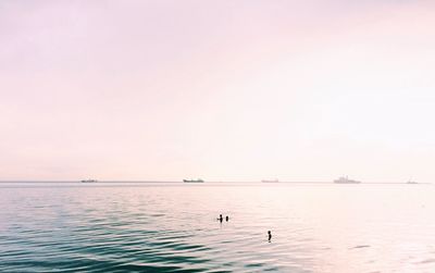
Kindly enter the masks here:
[[0, 272], [435, 272], [432, 185], [11, 183], [0, 208]]

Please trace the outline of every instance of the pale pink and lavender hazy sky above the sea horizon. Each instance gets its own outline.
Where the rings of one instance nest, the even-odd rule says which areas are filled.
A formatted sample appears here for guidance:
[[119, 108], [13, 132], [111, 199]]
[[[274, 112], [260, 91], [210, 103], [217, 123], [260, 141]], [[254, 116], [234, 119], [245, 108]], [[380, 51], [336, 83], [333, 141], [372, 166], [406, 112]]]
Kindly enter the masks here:
[[0, 179], [435, 182], [435, 2], [3, 0]]

